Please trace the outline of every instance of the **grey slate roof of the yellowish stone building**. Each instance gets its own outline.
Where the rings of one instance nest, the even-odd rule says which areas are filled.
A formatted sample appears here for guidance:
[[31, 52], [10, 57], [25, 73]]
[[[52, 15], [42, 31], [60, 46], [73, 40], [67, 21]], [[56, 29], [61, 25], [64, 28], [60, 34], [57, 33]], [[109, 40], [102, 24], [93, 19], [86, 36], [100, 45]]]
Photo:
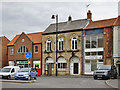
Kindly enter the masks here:
[[[61, 23], [58, 23], [58, 32], [83, 29], [87, 25], [87, 23], [88, 23], [87, 19], [79, 19], [79, 20], [73, 20], [73, 21], [68, 21], [68, 22], [61, 22]], [[43, 32], [43, 34], [56, 32], [55, 26], [56, 26], [55, 23], [50, 24], [48, 28]]]

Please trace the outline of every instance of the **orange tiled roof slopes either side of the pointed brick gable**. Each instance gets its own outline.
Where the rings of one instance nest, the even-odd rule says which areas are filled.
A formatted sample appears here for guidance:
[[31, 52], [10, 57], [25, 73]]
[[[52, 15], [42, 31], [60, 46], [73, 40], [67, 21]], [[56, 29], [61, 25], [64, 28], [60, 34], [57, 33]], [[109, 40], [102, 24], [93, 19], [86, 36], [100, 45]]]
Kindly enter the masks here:
[[[30, 40], [33, 43], [42, 43], [42, 32], [37, 32], [37, 33], [29, 33], [26, 34]], [[16, 40], [19, 38], [20, 35], [16, 35], [9, 43], [8, 46], [10, 45], [14, 45], [14, 43], [16, 42]]]

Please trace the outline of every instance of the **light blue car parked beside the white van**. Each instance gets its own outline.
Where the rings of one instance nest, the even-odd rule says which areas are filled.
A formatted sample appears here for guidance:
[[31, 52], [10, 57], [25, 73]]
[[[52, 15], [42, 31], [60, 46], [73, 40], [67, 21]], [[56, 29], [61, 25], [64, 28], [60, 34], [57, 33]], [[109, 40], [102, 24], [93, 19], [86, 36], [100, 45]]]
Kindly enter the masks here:
[[15, 75], [15, 80], [18, 79], [27, 79], [31, 80], [32, 78], [36, 79], [37, 72], [34, 68], [21, 68], [18, 73]]

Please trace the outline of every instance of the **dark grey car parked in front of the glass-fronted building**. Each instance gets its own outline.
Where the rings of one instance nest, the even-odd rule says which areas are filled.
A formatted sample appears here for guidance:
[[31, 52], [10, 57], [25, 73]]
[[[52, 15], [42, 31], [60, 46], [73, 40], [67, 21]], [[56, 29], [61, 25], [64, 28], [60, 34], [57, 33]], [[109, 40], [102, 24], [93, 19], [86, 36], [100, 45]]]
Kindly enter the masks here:
[[114, 65], [101, 65], [93, 74], [94, 79], [110, 79], [117, 78], [117, 69]]

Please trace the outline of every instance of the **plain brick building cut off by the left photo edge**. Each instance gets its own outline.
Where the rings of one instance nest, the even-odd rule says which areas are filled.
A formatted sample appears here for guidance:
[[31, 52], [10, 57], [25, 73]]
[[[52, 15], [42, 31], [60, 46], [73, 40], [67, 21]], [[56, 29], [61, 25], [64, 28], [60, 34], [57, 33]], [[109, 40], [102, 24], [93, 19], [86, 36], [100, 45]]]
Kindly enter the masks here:
[[0, 68], [7, 66], [7, 44], [10, 41], [5, 37], [0, 37]]

